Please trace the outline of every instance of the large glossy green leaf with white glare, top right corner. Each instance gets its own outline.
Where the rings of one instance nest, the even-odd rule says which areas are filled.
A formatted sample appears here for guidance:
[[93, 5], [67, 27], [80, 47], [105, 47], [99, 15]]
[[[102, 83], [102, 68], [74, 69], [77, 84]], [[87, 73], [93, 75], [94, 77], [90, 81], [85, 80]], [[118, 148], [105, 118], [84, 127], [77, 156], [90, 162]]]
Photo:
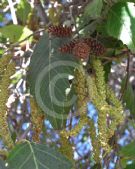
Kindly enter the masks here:
[[135, 52], [135, 8], [134, 3], [117, 3], [108, 13], [107, 32], [120, 39]]

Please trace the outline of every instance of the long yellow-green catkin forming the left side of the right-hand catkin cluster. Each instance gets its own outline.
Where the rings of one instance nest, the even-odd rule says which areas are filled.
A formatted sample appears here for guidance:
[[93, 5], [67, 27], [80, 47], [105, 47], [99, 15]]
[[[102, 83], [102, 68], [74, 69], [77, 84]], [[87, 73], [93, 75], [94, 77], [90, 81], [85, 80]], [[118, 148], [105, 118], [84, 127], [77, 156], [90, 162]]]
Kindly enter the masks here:
[[106, 102], [98, 94], [98, 90], [95, 83], [94, 77], [87, 77], [88, 93], [91, 102], [96, 106], [98, 110], [98, 139], [99, 142], [106, 151], [110, 151], [110, 146], [108, 145], [108, 128], [106, 124], [106, 114], [108, 112], [108, 107]]

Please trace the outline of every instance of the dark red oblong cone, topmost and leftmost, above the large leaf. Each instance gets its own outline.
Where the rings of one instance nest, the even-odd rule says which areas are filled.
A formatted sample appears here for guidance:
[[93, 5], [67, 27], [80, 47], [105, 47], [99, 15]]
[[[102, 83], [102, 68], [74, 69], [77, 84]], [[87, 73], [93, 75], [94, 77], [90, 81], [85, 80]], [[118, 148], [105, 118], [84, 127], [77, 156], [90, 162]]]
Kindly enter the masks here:
[[64, 27], [62, 25], [51, 25], [48, 27], [48, 32], [57, 37], [70, 37], [72, 35], [72, 28], [67, 26]]

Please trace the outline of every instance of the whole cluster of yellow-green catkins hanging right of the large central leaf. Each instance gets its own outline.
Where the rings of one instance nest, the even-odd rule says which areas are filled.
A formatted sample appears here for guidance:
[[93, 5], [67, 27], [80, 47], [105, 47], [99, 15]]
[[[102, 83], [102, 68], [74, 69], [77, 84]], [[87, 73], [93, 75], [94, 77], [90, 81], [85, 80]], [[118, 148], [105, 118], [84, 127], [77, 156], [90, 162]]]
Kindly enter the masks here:
[[[98, 139], [101, 147], [110, 152], [109, 139], [119, 123], [123, 121], [123, 108], [113, 91], [106, 87], [103, 66], [100, 60], [93, 61], [95, 76], [87, 77], [88, 93], [91, 102], [98, 110]], [[107, 116], [113, 118], [110, 125], [107, 124]]]

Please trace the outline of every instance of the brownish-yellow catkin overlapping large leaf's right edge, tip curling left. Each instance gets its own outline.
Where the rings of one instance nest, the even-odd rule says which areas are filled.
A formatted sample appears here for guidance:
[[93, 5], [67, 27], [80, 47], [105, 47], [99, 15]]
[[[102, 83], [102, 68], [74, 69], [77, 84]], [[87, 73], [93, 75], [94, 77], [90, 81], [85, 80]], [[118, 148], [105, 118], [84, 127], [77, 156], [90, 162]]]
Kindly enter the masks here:
[[77, 116], [80, 116], [79, 123], [70, 131], [63, 130], [63, 136], [76, 136], [84, 125], [88, 123], [87, 113], [87, 88], [85, 79], [85, 70], [80, 66], [75, 70], [73, 86], [77, 96]]

